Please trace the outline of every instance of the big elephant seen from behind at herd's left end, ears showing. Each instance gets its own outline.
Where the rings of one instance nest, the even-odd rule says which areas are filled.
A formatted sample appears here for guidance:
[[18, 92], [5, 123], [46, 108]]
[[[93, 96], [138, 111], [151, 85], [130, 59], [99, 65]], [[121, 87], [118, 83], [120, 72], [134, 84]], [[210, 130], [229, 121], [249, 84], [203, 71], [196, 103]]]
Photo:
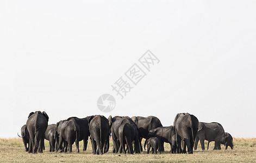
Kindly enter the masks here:
[[49, 117], [45, 111], [30, 112], [27, 120], [27, 129], [29, 133], [28, 153], [43, 152], [43, 141], [45, 140], [45, 131], [48, 126]]

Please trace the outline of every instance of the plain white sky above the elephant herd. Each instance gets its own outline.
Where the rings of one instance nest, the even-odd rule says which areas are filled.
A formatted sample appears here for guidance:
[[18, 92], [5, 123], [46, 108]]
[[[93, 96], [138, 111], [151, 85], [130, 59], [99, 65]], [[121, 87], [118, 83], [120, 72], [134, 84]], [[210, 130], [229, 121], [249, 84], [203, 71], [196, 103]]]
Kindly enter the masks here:
[[[29, 112], [49, 124], [178, 112], [255, 137], [255, 1], [0, 1], [0, 137]], [[160, 60], [124, 99], [113, 85], [148, 49]], [[139, 64], [138, 64], [139, 65]], [[116, 108], [96, 105], [111, 93]]]

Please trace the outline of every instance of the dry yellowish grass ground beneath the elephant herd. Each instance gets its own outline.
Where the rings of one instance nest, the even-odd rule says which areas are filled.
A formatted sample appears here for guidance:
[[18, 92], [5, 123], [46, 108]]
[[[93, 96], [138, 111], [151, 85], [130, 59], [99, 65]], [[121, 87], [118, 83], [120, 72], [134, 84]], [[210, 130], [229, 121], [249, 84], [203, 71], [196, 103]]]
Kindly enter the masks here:
[[[125, 155], [112, 153], [104, 155], [92, 155], [91, 143], [88, 143], [88, 151], [83, 152], [82, 142], [79, 143], [82, 152], [55, 153], [48, 152], [48, 141], [45, 141], [46, 151], [39, 154], [24, 152], [22, 139], [0, 139], [0, 162], [256, 162], [256, 138], [234, 139], [234, 150], [228, 148], [221, 151], [213, 151], [214, 142], [210, 143], [209, 151], [202, 151], [198, 145], [194, 154], [141, 154]], [[206, 145], [206, 141], [205, 141]], [[73, 150], [75, 149], [73, 145]], [[170, 151], [170, 145], [165, 143], [165, 151]]]

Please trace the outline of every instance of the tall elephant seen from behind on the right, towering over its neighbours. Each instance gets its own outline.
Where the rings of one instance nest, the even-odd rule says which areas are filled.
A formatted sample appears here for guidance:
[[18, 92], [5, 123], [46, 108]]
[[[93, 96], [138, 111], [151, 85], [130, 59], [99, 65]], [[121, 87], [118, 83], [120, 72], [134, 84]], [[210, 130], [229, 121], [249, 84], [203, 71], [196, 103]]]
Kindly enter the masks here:
[[181, 141], [184, 141], [183, 153], [186, 153], [187, 146], [189, 154], [192, 154], [198, 130], [197, 117], [190, 115], [189, 113], [179, 113], [174, 119], [173, 126], [176, 133], [177, 153], [180, 153]]

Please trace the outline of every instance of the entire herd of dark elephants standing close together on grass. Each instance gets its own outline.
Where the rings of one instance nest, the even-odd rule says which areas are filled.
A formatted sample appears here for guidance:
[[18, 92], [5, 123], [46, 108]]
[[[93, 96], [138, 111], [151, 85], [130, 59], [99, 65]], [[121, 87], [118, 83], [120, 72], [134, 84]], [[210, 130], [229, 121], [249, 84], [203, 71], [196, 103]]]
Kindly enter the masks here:
[[[48, 115], [45, 111], [30, 112], [27, 123], [21, 128], [21, 136], [25, 150], [28, 153], [42, 153], [44, 140], [49, 141], [50, 152], [72, 152], [75, 143], [79, 152], [79, 141], [83, 140], [83, 151], [86, 151], [91, 140], [92, 153], [103, 154], [109, 151], [109, 140], [112, 136], [113, 153], [140, 153], [141, 140], [145, 138], [144, 149], [147, 153], [164, 151], [164, 142], [170, 143], [171, 153], [193, 153], [200, 141], [204, 150], [204, 140], [214, 141], [214, 149], [221, 149], [221, 144], [233, 149], [233, 138], [224, 133], [220, 123], [198, 122], [189, 113], [177, 114], [173, 126], [163, 127], [160, 120], [154, 116], [88, 116], [85, 118], [70, 117], [57, 124], [48, 125]], [[28, 145], [28, 146], [27, 146]], [[125, 146], [127, 145], [127, 146]]]

